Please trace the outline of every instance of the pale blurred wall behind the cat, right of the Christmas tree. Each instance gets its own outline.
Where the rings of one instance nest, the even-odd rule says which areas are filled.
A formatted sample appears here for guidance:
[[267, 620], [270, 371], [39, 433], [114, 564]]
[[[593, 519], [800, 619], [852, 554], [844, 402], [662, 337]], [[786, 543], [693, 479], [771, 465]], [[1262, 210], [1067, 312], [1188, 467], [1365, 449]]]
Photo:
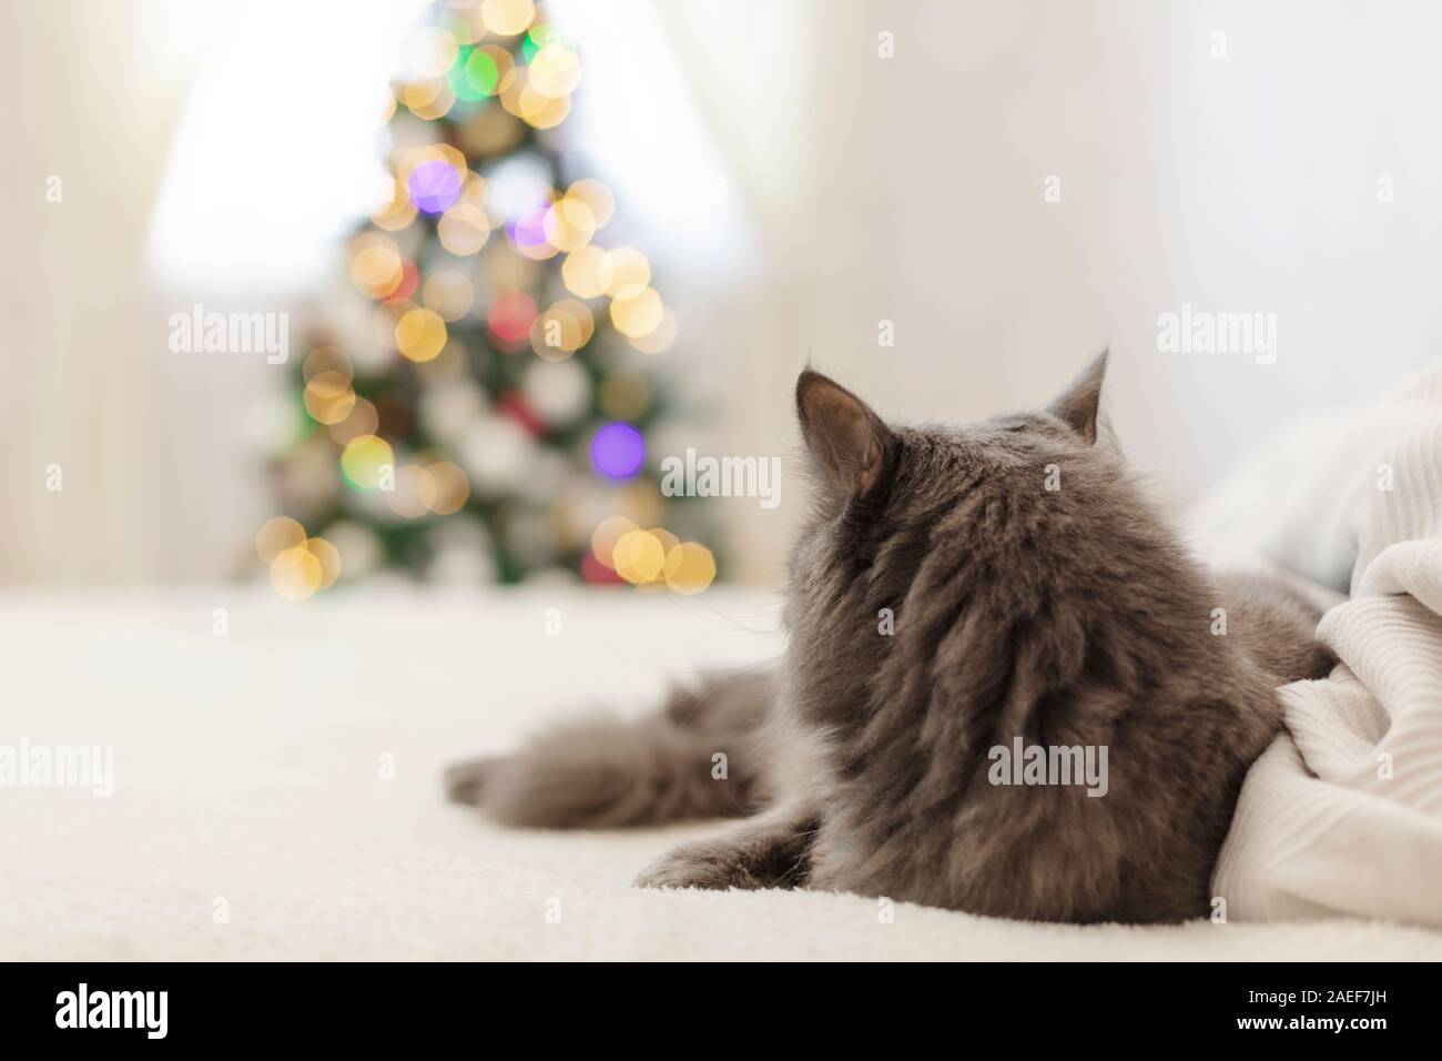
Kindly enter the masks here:
[[[673, 17], [764, 10], [727, 7]], [[764, 91], [725, 91], [727, 38], [689, 29], [698, 94], [767, 127]], [[770, 126], [809, 165], [750, 153], [764, 245], [709, 319], [743, 364], [727, 445], [782, 452], [808, 351], [885, 414], [965, 420], [1044, 401], [1110, 344], [1118, 432], [1188, 499], [1276, 423], [1390, 385], [1442, 354], [1439, 30], [1423, 3], [813, 4], [803, 105]], [[1184, 302], [1276, 313], [1276, 362], [1158, 352]], [[774, 577], [784, 520], [728, 511], [747, 573]]]

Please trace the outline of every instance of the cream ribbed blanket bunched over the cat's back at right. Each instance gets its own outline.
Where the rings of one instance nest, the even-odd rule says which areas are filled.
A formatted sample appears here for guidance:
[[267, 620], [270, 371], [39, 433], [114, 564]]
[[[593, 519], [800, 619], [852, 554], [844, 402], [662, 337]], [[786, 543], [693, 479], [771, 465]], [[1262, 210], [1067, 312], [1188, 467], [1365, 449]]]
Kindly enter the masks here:
[[1214, 878], [1234, 920], [1331, 914], [1442, 927], [1442, 370], [1293, 430], [1197, 520], [1234, 562], [1331, 589], [1341, 663], [1280, 696]]

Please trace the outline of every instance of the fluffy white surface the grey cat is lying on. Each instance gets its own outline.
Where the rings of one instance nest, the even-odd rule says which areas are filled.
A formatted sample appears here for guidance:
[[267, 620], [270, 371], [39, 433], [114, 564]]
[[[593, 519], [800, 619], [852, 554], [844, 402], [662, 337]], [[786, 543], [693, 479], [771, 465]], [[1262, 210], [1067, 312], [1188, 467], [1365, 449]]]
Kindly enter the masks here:
[[636, 891], [708, 826], [505, 831], [441, 800], [447, 761], [774, 654], [776, 612], [724, 592], [0, 596], [0, 746], [115, 755], [110, 798], [0, 787], [0, 957], [1442, 959], [1442, 934], [1360, 921], [885, 922], [846, 895]]

